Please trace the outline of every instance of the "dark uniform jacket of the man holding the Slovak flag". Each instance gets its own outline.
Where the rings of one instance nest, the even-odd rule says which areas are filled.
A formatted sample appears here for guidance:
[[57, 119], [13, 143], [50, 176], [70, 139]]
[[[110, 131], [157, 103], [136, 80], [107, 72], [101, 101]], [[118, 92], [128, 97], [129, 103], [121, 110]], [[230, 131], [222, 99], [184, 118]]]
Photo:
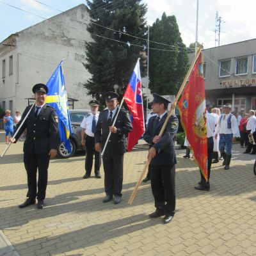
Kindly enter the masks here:
[[[112, 118], [112, 124], [115, 120], [117, 113], [118, 109], [116, 109], [115, 116], [113, 116]], [[116, 133], [111, 133], [105, 152], [111, 154], [124, 154], [127, 134], [132, 131], [130, 116], [129, 113], [125, 111], [125, 109], [120, 109], [120, 112], [118, 113], [118, 116], [116, 118], [115, 127], [117, 131]], [[106, 109], [100, 112], [94, 134], [95, 143], [101, 143], [102, 149], [104, 148], [104, 145], [108, 138], [108, 134], [108, 109]]]

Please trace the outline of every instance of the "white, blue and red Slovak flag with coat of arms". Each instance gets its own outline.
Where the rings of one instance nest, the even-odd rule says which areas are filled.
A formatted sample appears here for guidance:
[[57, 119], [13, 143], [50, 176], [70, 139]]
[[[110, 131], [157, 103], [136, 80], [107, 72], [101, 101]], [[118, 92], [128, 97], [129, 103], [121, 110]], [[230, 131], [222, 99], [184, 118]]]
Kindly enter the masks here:
[[140, 78], [140, 59], [132, 72], [129, 84], [124, 93], [124, 100], [131, 113], [132, 131], [128, 134], [127, 150], [131, 151], [134, 145], [145, 132], [143, 115], [143, 98]]

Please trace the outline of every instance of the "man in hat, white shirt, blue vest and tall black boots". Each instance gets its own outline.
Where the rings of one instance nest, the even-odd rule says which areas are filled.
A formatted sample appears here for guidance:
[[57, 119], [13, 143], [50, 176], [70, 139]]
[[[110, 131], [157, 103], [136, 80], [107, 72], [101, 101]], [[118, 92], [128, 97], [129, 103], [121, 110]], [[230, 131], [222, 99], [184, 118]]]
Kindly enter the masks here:
[[236, 141], [236, 137], [240, 137], [236, 116], [230, 113], [231, 109], [232, 106], [230, 103], [223, 106], [224, 113], [220, 115], [220, 119], [215, 130], [215, 138], [220, 134], [219, 149], [221, 156], [223, 156], [224, 159], [222, 164], [225, 165], [224, 170], [229, 169], [232, 155], [232, 142]]

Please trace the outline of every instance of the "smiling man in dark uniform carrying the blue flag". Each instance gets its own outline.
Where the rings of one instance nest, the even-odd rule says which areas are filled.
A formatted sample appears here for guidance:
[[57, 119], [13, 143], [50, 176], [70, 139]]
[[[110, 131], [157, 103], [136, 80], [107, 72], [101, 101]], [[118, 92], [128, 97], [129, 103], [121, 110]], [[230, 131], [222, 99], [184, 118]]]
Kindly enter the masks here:
[[[45, 84], [35, 84], [32, 89], [35, 93], [35, 106], [31, 109], [28, 106], [15, 131], [31, 109], [22, 127], [12, 142], [19, 140], [22, 133], [27, 129], [26, 141], [24, 141], [24, 165], [28, 176], [27, 200], [20, 204], [20, 208], [35, 204], [38, 200], [37, 208], [44, 207], [45, 191], [47, 187], [48, 166], [50, 157], [55, 157], [58, 148], [58, 116], [55, 109], [45, 104], [48, 88]], [[36, 193], [36, 173], [38, 169], [38, 183]]]

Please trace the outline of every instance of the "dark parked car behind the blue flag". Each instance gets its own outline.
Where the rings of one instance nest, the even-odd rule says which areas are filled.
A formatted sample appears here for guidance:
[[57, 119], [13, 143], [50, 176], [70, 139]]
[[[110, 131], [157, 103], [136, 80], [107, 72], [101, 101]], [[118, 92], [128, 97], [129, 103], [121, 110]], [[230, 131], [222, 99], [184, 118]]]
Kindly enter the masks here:
[[75, 154], [79, 150], [85, 150], [85, 147], [81, 144], [81, 130], [80, 127], [85, 115], [90, 113], [90, 109], [70, 109], [70, 121], [72, 125], [72, 134], [70, 134], [70, 143], [72, 152], [68, 153], [67, 148], [63, 142], [60, 142], [58, 147], [58, 154], [62, 158], [68, 158]]

